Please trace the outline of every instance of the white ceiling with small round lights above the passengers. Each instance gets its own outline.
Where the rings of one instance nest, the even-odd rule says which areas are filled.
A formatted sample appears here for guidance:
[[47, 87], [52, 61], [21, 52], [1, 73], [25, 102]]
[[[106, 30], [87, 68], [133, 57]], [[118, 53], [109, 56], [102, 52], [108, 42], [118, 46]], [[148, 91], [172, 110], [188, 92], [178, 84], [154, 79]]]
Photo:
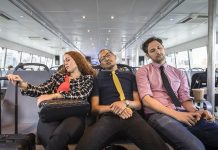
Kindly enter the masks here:
[[[207, 21], [178, 22], [193, 14], [207, 15], [208, 0], [185, 0], [165, 16], [170, 9], [163, 10], [166, 5], [181, 1], [1, 0], [0, 11], [14, 20], [0, 17], [0, 38], [50, 54], [76, 49], [75, 45], [92, 57], [102, 48], [119, 52], [124, 46], [128, 47], [127, 55], [134, 55], [134, 49], [150, 36], [161, 37], [172, 47], [207, 35]], [[152, 21], [157, 22], [153, 25]]]

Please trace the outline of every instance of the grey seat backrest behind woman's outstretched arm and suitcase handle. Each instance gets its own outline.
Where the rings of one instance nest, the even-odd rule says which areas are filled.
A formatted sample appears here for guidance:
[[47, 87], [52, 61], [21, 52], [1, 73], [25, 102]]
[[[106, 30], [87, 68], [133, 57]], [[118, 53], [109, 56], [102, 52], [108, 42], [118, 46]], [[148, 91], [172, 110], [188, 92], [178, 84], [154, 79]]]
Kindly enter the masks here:
[[[48, 71], [15, 71], [23, 80], [33, 85], [45, 82], [51, 76]], [[15, 87], [9, 83], [2, 106], [3, 132], [14, 132]], [[23, 96], [18, 91], [18, 133], [36, 132], [38, 107], [36, 98]]]

